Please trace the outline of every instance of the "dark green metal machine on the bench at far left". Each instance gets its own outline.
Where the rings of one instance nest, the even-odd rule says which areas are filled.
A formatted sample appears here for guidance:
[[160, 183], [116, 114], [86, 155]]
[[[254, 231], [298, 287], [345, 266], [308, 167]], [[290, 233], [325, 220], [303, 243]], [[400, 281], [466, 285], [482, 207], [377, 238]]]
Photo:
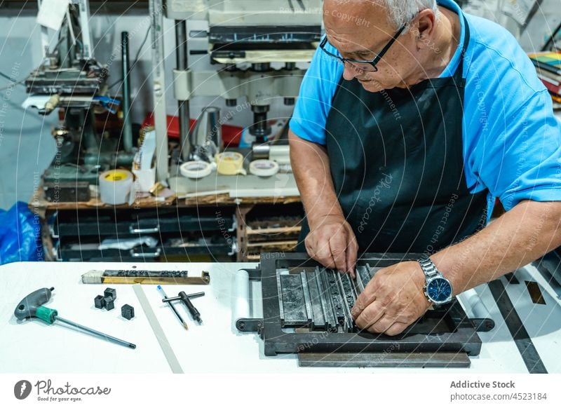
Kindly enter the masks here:
[[[133, 162], [133, 132], [128, 116], [128, 35], [122, 33], [121, 39], [121, 126], [116, 116], [107, 117], [107, 112], [116, 113], [121, 101], [108, 95], [108, 67], [95, 60], [89, 20], [88, 1], [69, 2], [52, 49], [46, 41], [47, 28], [43, 27], [43, 62], [25, 81], [29, 97], [23, 107], [38, 109], [43, 115], [59, 114], [59, 125], [52, 131], [57, 153], [43, 175], [48, 200], [87, 201], [88, 186], [97, 184], [101, 172], [119, 166], [130, 168]], [[102, 130], [96, 127], [96, 115], [105, 115]], [[119, 123], [116, 130], [107, 125], [111, 120]]]

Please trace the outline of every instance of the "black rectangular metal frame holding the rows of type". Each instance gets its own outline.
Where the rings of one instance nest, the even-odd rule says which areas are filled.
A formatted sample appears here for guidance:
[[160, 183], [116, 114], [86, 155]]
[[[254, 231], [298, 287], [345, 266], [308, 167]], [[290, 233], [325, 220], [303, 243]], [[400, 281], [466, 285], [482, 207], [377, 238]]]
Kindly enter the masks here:
[[[359, 265], [384, 267], [399, 261], [418, 259], [416, 254], [365, 254]], [[451, 304], [428, 311], [426, 318], [440, 319], [450, 327], [450, 332], [437, 334], [428, 329], [427, 320], [414, 323], [403, 334], [286, 332], [281, 327], [277, 287], [277, 268], [315, 267], [316, 261], [299, 253], [264, 253], [261, 257], [261, 280], [263, 296], [263, 320], [240, 319], [238, 329], [244, 332], [258, 331], [264, 340], [264, 353], [466, 353], [478, 355], [481, 340], [464, 309], [454, 299]]]

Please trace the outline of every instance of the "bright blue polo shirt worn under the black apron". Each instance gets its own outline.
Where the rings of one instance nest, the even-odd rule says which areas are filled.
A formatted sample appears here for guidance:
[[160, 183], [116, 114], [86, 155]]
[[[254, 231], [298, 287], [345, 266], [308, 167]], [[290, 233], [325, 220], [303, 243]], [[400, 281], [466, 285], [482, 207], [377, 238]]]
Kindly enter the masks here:
[[[551, 97], [518, 41], [503, 27], [462, 13], [452, 0], [438, 4], [465, 15], [470, 40], [464, 57], [463, 149], [471, 193], [489, 190], [506, 210], [520, 200], [561, 200], [561, 123]], [[464, 43], [464, 19], [461, 39]], [[327, 43], [332, 53], [337, 50]], [[440, 75], [452, 76], [461, 46]], [[318, 48], [304, 76], [290, 129], [325, 144], [325, 122], [343, 66]]]

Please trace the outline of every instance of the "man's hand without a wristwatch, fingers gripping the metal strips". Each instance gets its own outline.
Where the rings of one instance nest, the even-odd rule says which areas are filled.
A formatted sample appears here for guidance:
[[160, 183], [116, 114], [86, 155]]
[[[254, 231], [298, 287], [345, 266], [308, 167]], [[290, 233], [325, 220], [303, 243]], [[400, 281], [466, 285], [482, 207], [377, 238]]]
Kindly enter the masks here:
[[349, 272], [354, 278], [358, 244], [349, 223], [339, 215], [314, 221], [304, 241], [309, 256], [327, 268]]

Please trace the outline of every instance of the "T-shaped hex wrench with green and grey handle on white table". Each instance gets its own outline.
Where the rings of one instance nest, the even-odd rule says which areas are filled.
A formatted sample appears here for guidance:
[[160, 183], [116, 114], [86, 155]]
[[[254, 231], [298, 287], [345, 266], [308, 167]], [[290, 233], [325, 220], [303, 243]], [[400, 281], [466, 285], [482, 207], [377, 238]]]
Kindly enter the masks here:
[[43, 322], [46, 322], [48, 325], [53, 324], [55, 321], [65, 323], [69, 326], [81, 329], [84, 332], [93, 334], [94, 336], [101, 337], [102, 339], [105, 339], [107, 341], [112, 341], [113, 343], [121, 344], [121, 346], [136, 348], [135, 344], [129, 343], [128, 341], [117, 339], [116, 337], [109, 336], [108, 334], [103, 334], [102, 332], [97, 332], [97, 330], [90, 329], [89, 327], [85, 327], [79, 325], [78, 323], [74, 323], [71, 322], [70, 320], [61, 318], [58, 315], [58, 311], [43, 306], [43, 304], [46, 304], [50, 300], [50, 296], [53, 290], [55, 290], [54, 287], [51, 287], [50, 289], [43, 287], [43, 289], [39, 289], [36, 290], [35, 292], [28, 294], [26, 297], [22, 299], [22, 301], [20, 301], [18, 306], [16, 306], [13, 314], [15, 315], [16, 318], [18, 318], [18, 320], [39, 318], [43, 320]]

